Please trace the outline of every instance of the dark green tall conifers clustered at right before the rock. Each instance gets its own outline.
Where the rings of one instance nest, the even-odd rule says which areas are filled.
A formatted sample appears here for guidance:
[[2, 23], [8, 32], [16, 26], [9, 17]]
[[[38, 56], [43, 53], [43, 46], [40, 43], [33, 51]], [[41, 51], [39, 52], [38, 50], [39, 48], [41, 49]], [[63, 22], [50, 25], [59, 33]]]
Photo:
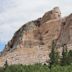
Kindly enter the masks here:
[[62, 54], [60, 55], [58, 48], [56, 47], [56, 40], [52, 41], [51, 53], [49, 54], [50, 67], [52, 65], [71, 65], [72, 64], [72, 50], [68, 51], [67, 44], [62, 44]]

